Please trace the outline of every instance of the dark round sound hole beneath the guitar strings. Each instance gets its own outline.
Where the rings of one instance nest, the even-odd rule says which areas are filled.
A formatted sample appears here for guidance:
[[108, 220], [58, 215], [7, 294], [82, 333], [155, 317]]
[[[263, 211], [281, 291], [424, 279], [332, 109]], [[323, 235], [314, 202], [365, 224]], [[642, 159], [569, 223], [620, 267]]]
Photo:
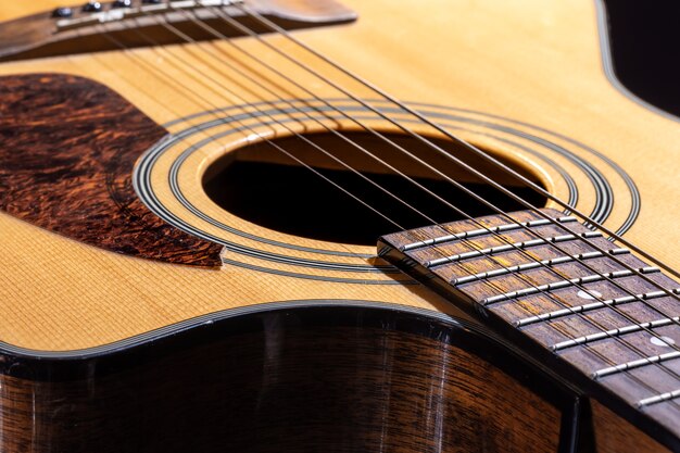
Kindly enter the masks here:
[[[257, 142], [230, 152], [213, 163], [203, 177], [205, 192], [226, 211], [254, 224], [290, 235], [353, 244], [373, 246], [379, 236], [398, 231], [400, 227], [408, 229], [466, 218], [445, 202], [368, 158], [338, 136], [313, 134], [305, 137], [338, 160], [356, 168], [374, 184], [342, 167], [304, 140], [286, 137], [276, 139], [276, 144], [314, 171], [295, 162], [266, 141]], [[423, 164], [405, 156], [375, 136], [344, 133], [344, 137], [369, 150], [464, 213], [473, 217], [495, 214], [495, 211], [483, 202], [465, 193], [451, 181], [433, 174]], [[401, 135], [388, 137], [496, 207], [505, 212], [526, 209], [420, 141]], [[532, 205], [545, 205], [546, 200], [542, 196], [520, 186], [513, 177], [476, 158], [470, 151], [451, 141], [438, 139], [431, 141], [484, 175], [489, 175]], [[503, 160], [500, 155], [494, 156], [540, 185], [539, 179], [526, 168]], [[315, 172], [360, 198], [365, 204]], [[393, 197], [377, 186], [385, 188]]]

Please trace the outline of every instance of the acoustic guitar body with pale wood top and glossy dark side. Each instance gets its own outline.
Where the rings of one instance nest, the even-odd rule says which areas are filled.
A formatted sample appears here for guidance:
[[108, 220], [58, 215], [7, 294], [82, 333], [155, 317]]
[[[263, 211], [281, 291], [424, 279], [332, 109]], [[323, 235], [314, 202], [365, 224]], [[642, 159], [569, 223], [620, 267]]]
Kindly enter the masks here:
[[[613, 84], [602, 5], [342, 4], [355, 22], [293, 34], [680, 267], [678, 123]], [[13, 2], [0, 20], [59, 5]], [[263, 37], [405, 117], [286, 37]], [[262, 177], [265, 166], [300, 167], [263, 137], [339, 147], [332, 128], [370, 144], [345, 113], [404, 135], [257, 39], [234, 41], [282, 74], [221, 41], [0, 64], [0, 451], [680, 448], [377, 257], [364, 237], [343, 241], [361, 223], [343, 218], [325, 236], [335, 221], [304, 229], [298, 216], [287, 229], [284, 214], [256, 215], [276, 206], [254, 196], [219, 201], [235, 162], [263, 166], [230, 193], [265, 199], [286, 185]], [[295, 152], [342, 169], [314, 161], [308, 143]], [[357, 155], [358, 168], [381, 173]], [[281, 212], [332, 211], [315, 187], [277, 199]]]

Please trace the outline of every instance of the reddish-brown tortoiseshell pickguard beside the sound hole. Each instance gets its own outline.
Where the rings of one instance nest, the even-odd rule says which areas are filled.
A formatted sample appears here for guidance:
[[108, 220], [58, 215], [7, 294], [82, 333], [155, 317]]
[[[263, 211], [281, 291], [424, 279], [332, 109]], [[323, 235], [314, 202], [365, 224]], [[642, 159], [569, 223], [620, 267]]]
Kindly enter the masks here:
[[0, 209], [113, 252], [217, 267], [222, 246], [167, 225], [133, 188], [135, 161], [166, 134], [93, 80], [0, 77]]

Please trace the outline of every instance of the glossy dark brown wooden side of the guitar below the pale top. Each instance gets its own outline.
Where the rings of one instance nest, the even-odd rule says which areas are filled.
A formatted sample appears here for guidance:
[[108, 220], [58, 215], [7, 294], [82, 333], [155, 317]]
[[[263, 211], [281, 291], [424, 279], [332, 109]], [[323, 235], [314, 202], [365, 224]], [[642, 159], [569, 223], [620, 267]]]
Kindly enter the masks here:
[[0, 451], [557, 450], [574, 395], [492, 339], [424, 313], [307, 305], [118, 352], [13, 357]]

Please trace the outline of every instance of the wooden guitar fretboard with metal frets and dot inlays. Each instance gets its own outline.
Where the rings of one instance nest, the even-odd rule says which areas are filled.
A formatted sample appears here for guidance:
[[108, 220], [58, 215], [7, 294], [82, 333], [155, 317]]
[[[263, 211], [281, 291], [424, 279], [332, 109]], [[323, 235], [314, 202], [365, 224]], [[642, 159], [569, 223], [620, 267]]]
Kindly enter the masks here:
[[382, 237], [379, 253], [680, 432], [680, 285], [577, 218], [428, 226]]

